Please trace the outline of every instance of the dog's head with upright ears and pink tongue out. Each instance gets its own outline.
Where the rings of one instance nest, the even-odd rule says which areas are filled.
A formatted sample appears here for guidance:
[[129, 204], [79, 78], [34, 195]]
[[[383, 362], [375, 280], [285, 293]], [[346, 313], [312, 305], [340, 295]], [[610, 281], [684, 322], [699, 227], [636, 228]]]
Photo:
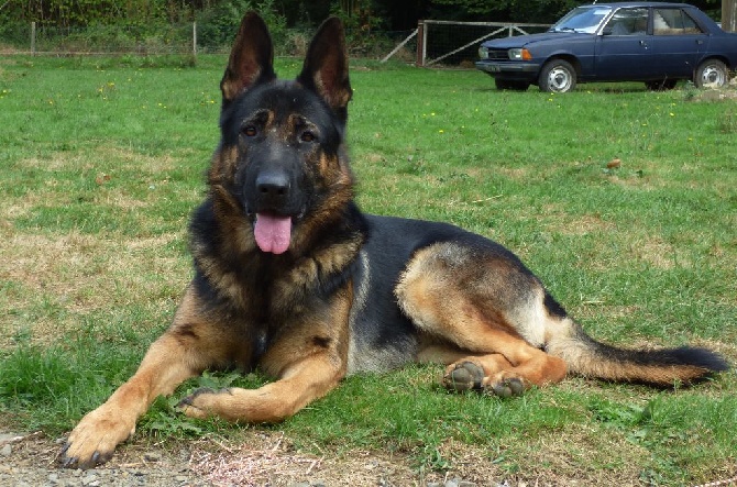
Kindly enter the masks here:
[[262, 252], [282, 254], [305, 245], [353, 197], [342, 24], [320, 26], [296, 80], [278, 80], [273, 60], [264, 21], [248, 13], [220, 82], [221, 142], [209, 182], [221, 206], [250, 221]]

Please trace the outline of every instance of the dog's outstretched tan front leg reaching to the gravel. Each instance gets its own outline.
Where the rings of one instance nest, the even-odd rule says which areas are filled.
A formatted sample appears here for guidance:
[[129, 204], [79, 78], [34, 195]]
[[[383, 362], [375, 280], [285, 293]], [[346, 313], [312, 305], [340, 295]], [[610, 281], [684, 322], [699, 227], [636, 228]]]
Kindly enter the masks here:
[[58, 462], [69, 468], [91, 468], [110, 460], [116, 446], [135, 431], [138, 419], [161, 395], [169, 395], [189, 377], [221, 365], [232, 337], [198, 316], [190, 289], [173, 325], [156, 340], [136, 373], [72, 431]]

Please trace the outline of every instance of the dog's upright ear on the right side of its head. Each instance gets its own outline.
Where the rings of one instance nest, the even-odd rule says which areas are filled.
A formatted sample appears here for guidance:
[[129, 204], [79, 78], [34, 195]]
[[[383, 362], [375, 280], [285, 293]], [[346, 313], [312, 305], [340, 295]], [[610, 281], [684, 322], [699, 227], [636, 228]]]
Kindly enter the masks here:
[[343, 24], [337, 18], [322, 22], [312, 37], [297, 81], [312, 89], [345, 122], [353, 90], [348, 78], [348, 53]]

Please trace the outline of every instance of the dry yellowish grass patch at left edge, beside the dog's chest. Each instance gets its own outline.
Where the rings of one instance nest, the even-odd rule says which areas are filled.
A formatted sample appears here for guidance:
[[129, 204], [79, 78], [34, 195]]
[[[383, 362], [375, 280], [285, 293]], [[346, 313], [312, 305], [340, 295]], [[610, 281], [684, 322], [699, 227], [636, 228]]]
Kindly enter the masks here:
[[189, 263], [165, 247], [183, 235], [122, 240], [70, 232], [8, 234], [0, 240], [0, 348], [28, 330], [33, 343], [53, 343], [85, 317], [127, 306], [170, 308], [186, 285]]

